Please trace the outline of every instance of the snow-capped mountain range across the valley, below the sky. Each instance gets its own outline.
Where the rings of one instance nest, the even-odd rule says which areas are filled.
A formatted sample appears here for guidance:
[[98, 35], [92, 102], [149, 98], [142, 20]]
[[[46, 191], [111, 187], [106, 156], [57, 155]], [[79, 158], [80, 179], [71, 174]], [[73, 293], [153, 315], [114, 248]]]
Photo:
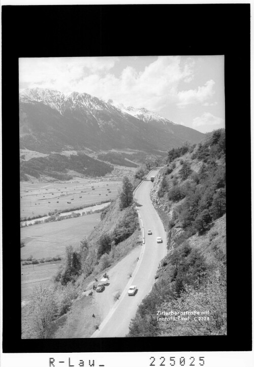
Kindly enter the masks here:
[[86, 93], [31, 88], [19, 95], [20, 148], [167, 151], [204, 134], [144, 108], [114, 106]]

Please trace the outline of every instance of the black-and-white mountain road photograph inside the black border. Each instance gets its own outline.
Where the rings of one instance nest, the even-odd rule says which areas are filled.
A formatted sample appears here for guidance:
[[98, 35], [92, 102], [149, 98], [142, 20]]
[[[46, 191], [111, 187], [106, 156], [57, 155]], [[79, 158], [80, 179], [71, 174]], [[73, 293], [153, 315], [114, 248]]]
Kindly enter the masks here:
[[227, 334], [224, 90], [223, 55], [19, 59], [23, 339]]

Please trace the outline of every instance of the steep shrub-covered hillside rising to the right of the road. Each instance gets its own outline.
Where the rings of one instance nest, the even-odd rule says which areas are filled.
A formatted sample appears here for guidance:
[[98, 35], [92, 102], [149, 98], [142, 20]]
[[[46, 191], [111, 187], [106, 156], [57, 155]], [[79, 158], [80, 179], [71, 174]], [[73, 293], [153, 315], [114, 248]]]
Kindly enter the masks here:
[[[223, 335], [227, 333], [225, 130], [207, 134], [197, 146], [171, 149], [167, 162], [155, 178], [151, 198], [163, 217], [169, 252], [128, 336]], [[171, 311], [180, 319], [175, 316], [172, 321], [172, 313], [166, 314]]]

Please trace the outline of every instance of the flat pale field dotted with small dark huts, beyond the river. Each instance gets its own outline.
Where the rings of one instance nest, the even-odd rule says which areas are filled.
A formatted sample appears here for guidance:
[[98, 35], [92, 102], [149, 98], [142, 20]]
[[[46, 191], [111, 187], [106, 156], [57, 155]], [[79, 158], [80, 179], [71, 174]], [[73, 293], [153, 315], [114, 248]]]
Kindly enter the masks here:
[[[20, 217], [48, 215], [49, 211], [75, 208], [114, 199], [121, 181], [75, 179], [67, 182], [20, 182]], [[69, 202], [69, 203], [68, 203]]]

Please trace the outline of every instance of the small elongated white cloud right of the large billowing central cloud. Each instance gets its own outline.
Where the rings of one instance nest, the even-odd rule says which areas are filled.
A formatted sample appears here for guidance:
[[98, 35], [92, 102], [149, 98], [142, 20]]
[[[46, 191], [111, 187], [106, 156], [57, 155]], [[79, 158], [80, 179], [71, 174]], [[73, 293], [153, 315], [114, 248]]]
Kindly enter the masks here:
[[215, 82], [213, 80], [208, 80], [205, 85], [199, 86], [198, 89], [189, 89], [179, 91], [178, 96], [178, 107], [185, 107], [189, 104], [202, 103], [214, 95]]

